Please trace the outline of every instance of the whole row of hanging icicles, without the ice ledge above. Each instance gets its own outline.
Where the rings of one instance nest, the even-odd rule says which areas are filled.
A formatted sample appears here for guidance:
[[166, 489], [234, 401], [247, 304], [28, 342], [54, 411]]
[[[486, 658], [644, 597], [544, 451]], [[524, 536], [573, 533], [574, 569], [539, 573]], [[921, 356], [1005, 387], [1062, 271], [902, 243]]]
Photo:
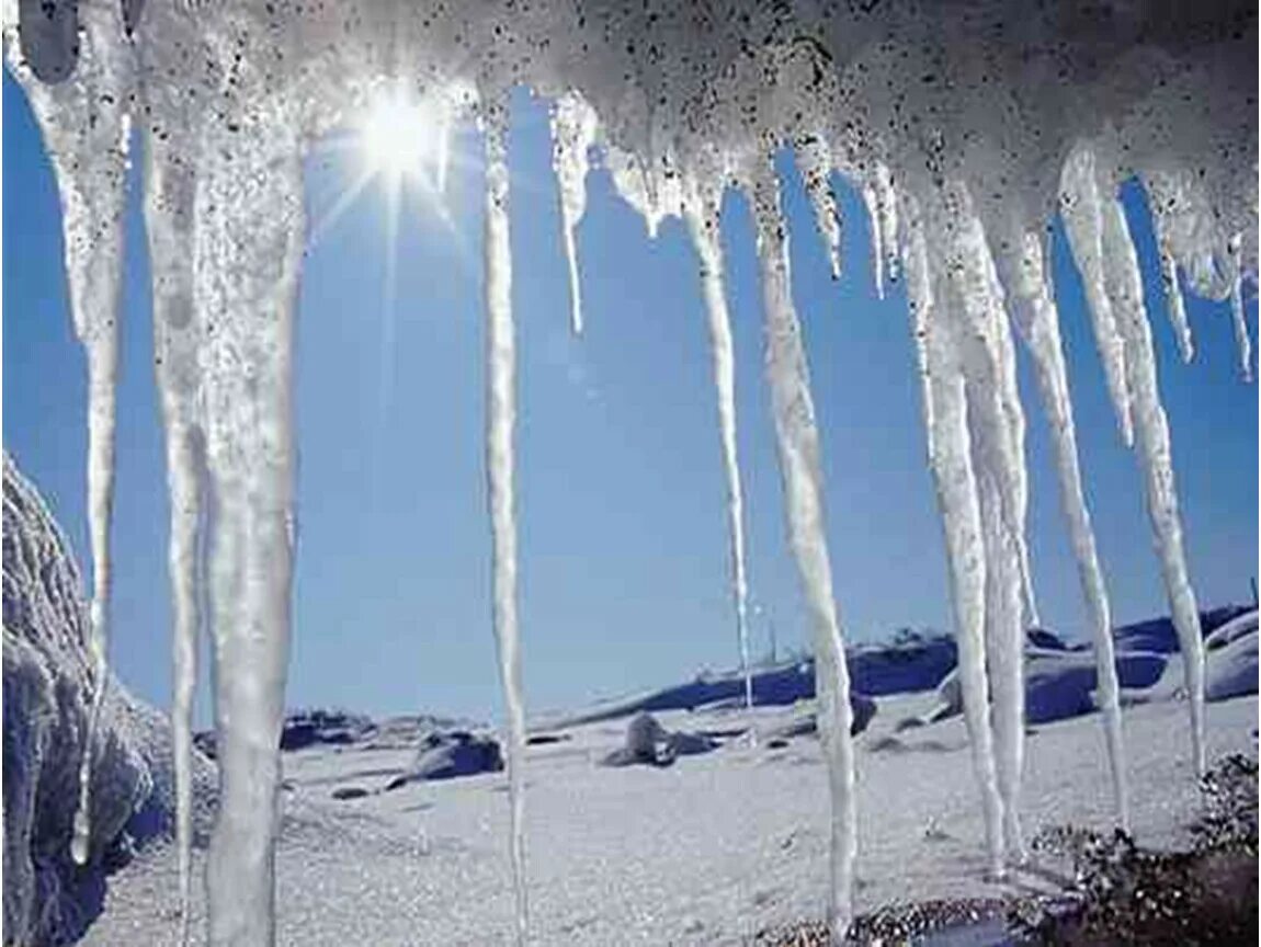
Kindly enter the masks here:
[[[117, 163], [116, 187], [77, 170], [71, 130], [55, 127], [53, 92], [28, 83], [52, 145], [62, 195], [66, 265], [79, 338], [88, 352], [88, 514], [93, 556], [93, 726], [107, 680], [106, 612], [108, 528], [113, 475], [117, 298], [121, 217], [129, 129], [95, 130], [82, 146]], [[40, 97], [44, 98], [43, 107]], [[49, 105], [52, 103], [52, 105]], [[79, 134], [81, 130], [73, 130]], [[585, 207], [594, 112], [566, 96], [555, 113], [555, 164], [571, 289], [571, 322], [581, 329], [576, 227]], [[203, 155], [188, 161], [148, 140], [145, 222], [154, 293], [155, 352], [166, 429], [171, 501], [170, 579], [174, 599], [177, 834], [182, 917], [188, 915], [190, 860], [190, 724], [198, 627], [206, 624], [218, 662], [222, 802], [209, 861], [211, 936], [216, 943], [272, 939], [271, 847], [277, 778], [274, 752], [282, 715], [291, 570], [293, 444], [289, 426], [293, 284], [303, 228], [296, 140], [240, 149], [232, 161]], [[87, 158], [88, 155], [82, 155]], [[798, 155], [834, 274], [840, 271], [840, 219], [826, 182], [831, 156], [817, 148]], [[487, 467], [493, 537], [493, 619], [508, 709], [512, 864], [518, 941], [526, 938], [523, 845], [525, 711], [520, 682], [513, 522], [514, 351], [508, 251], [508, 173], [502, 116], [487, 130]], [[259, 171], [242, 175], [241, 168]], [[779, 184], [769, 159], [739, 175], [753, 207], [772, 397], [791, 546], [815, 632], [823, 752], [832, 806], [831, 908], [836, 937], [852, 918], [856, 854], [855, 759], [850, 735], [850, 682], [831, 588], [825, 540], [823, 487], [806, 348], [792, 300], [788, 235]], [[818, 182], [822, 180], [823, 185]], [[91, 187], [90, 187], [91, 185]], [[1028, 478], [1024, 416], [1015, 386], [1011, 325], [1028, 348], [1052, 431], [1055, 472], [1087, 601], [1098, 662], [1102, 718], [1117, 818], [1127, 825], [1119, 686], [1108, 599], [1086, 507], [1077, 456], [1058, 314], [1047, 246], [1038, 226], [995, 240], [962, 183], [939, 190], [895, 189], [876, 165], [861, 183], [873, 218], [874, 267], [883, 289], [900, 264], [923, 380], [928, 458], [937, 487], [958, 638], [960, 677], [973, 763], [981, 787], [990, 866], [1001, 874], [1024, 857], [1019, 805], [1024, 740], [1024, 629], [1035, 623], [1025, 541]], [[731, 585], [745, 701], [752, 706], [748, 659], [743, 498], [736, 458], [734, 358], [719, 238], [721, 187], [710, 175], [685, 183], [682, 208], [696, 246], [712, 348], [719, 431], [726, 479]], [[256, 206], [286, 208], [260, 226]], [[1087, 146], [1063, 171], [1062, 212], [1082, 274], [1096, 343], [1122, 438], [1136, 449], [1163, 578], [1178, 629], [1188, 694], [1195, 769], [1204, 765], [1204, 670], [1198, 612], [1182, 549], [1168, 421], [1156, 386], [1155, 357], [1142, 284], [1125, 213], [1108, 168]], [[251, 229], [252, 228], [252, 229]], [[242, 231], [251, 238], [237, 240]], [[296, 231], [296, 232], [295, 232]], [[1001, 252], [994, 247], [1002, 246]], [[279, 271], [259, 264], [267, 255]], [[1190, 333], [1177, 271], [1170, 315], [1185, 356]], [[233, 277], [227, 279], [227, 274]], [[1232, 311], [1241, 357], [1247, 327], [1236, 279]], [[276, 291], [276, 286], [281, 291]], [[264, 308], [275, 319], [251, 319]], [[212, 323], [218, 320], [213, 327]], [[211, 332], [218, 334], [211, 338]], [[242, 363], [242, 357], [255, 362]], [[247, 433], [253, 430], [253, 433]], [[208, 518], [204, 497], [213, 492]], [[207, 523], [212, 522], [211, 528]], [[206, 589], [207, 600], [200, 600]], [[262, 668], [261, 671], [259, 668]], [[90, 738], [90, 744], [91, 743]], [[271, 739], [271, 744], [267, 744]], [[73, 852], [90, 855], [88, 755]], [[187, 934], [187, 927], [184, 933]]]

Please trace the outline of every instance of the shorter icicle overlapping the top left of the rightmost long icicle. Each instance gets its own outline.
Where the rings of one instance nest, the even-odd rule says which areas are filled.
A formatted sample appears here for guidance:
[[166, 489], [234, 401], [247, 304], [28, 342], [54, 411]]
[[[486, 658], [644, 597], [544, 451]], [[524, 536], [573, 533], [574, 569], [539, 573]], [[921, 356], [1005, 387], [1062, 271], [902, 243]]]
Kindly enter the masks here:
[[[1130, 407], [1131, 392], [1126, 381], [1125, 340], [1117, 328], [1117, 318], [1112, 311], [1105, 286], [1105, 271], [1110, 261], [1102, 245], [1101, 208], [1107, 200], [1100, 195], [1095, 173], [1095, 153], [1088, 148], [1078, 148], [1064, 163], [1063, 190], [1061, 211], [1064, 218], [1064, 229], [1068, 232], [1068, 245], [1086, 288], [1086, 301], [1090, 304], [1091, 322], [1095, 327], [1095, 344], [1103, 359], [1108, 395], [1112, 397], [1112, 407], [1121, 426], [1121, 438], [1126, 446], [1134, 446], [1134, 419]], [[1111, 195], [1107, 195], [1107, 199], [1111, 199]]]

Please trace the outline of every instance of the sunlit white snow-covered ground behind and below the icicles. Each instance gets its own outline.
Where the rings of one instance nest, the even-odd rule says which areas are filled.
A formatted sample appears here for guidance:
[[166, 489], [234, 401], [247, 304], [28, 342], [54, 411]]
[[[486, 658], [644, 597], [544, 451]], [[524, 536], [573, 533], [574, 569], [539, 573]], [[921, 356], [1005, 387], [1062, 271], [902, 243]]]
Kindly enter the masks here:
[[[1154, 692], [1169, 695], [1177, 663]], [[987, 881], [976, 781], [953, 718], [895, 731], [932, 692], [879, 700], [857, 738], [857, 910], [893, 902], [1047, 889], [1047, 868]], [[608, 768], [625, 720], [550, 731], [527, 754], [526, 826], [532, 942], [739, 943], [826, 909], [827, 787], [818, 741], [765, 736], [801, 707], [759, 707], [758, 747], [736, 736], [666, 768]], [[660, 714], [671, 730], [730, 733], [743, 710]], [[1209, 758], [1256, 747], [1257, 699], [1208, 709]], [[1185, 705], [1127, 707], [1132, 822], [1148, 844], [1177, 842], [1198, 811]], [[412, 750], [322, 747], [284, 754], [279, 842], [281, 943], [508, 943], [513, 933], [506, 774], [409, 783], [380, 792]], [[339, 801], [333, 792], [369, 794]], [[1030, 835], [1073, 822], [1106, 827], [1111, 788], [1098, 715], [1030, 730], [1024, 816]], [[197, 854], [200, 866], [203, 852]], [[88, 944], [171, 942], [174, 852], [155, 849], [110, 881]], [[203, 937], [204, 897], [194, 903]]]

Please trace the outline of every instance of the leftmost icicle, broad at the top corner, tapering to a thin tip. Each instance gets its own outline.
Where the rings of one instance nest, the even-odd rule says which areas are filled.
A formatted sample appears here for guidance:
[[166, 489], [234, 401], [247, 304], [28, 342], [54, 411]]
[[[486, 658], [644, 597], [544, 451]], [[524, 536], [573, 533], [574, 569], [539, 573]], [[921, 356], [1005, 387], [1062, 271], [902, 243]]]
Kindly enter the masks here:
[[[78, 808], [71, 855], [92, 852], [92, 760], [108, 686], [110, 520], [113, 507], [115, 388], [119, 368], [119, 291], [126, 209], [131, 50], [115, 4], [40, 8], [21, 4], [21, 29], [5, 9], [9, 66], [39, 121], [62, 204], [66, 277], [74, 332], [87, 356], [87, 516], [92, 550], [92, 710], [79, 760]], [[20, 34], [20, 35], [19, 35]], [[26, 58], [29, 57], [29, 58]], [[77, 68], [76, 68], [76, 59]], [[38, 69], [49, 86], [35, 78]], [[74, 71], [73, 78], [69, 78]], [[105, 840], [98, 840], [105, 841]]]

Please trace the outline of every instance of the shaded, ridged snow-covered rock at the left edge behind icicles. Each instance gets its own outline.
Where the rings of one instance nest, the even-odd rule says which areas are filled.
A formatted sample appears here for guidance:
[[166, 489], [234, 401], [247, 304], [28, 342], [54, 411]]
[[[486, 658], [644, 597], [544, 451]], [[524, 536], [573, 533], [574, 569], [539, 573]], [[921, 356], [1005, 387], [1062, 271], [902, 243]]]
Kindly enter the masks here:
[[[53, 943], [82, 932], [106, 871], [173, 827], [170, 730], [111, 680], [93, 747], [91, 845], [69, 844], [96, 683], [88, 612], [66, 537], [34, 487], [4, 458], [4, 931], [6, 943]], [[199, 827], [213, 768], [194, 769]]]

